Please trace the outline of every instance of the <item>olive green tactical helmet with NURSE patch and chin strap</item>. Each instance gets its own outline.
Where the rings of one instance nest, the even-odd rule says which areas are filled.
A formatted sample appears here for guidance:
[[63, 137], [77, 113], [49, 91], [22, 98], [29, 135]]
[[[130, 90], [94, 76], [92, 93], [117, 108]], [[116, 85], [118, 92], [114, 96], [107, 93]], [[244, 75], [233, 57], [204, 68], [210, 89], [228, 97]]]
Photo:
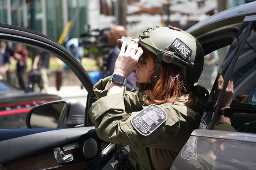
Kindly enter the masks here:
[[172, 26], [155, 26], [139, 35], [139, 44], [157, 56], [153, 85], [137, 83], [139, 91], [152, 89], [157, 83], [161, 62], [181, 68], [181, 78], [186, 85], [191, 86], [198, 81], [203, 71], [204, 52], [200, 43], [189, 33]]

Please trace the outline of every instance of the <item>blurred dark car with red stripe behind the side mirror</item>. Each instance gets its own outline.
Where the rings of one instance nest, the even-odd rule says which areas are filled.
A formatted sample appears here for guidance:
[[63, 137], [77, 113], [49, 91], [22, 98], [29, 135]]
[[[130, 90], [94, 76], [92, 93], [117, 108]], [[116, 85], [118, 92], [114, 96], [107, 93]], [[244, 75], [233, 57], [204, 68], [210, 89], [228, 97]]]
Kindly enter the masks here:
[[26, 116], [33, 107], [60, 99], [58, 95], [25, 93], [0, 80], [0, 129], [26, 128]]

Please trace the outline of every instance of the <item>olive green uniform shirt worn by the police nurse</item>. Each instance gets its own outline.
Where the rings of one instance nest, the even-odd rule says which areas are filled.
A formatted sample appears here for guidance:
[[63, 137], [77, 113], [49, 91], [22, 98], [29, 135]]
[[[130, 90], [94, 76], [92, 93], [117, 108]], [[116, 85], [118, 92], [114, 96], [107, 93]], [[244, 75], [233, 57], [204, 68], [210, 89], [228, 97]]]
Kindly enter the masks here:
[[181, 102], [158, 105], [166, 112], [167, 120], [151, 134], [143, 136], [131, 125], [131, 117], [143, 109], [137, 91], [106, 96], [104, 89], [108, 81], [109, 77], [94, 86], [98, 100], [89, 111], [99, 138], [129, 145], [134, 170], [169, 170], [191, 132], [199, 127], [206, 96], [197, 96], [196, 104], [191, 107]]

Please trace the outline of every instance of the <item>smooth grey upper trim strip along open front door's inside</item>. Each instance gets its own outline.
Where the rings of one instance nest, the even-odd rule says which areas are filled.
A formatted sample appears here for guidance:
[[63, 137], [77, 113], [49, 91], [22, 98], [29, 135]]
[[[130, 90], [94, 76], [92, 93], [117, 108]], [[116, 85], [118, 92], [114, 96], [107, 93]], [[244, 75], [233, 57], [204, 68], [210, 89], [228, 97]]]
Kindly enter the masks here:
[[[76, 140], [81, 135], [86, 134], [89, 132], [89, 130], [93, 129], [93, 127], [76, 128], [75, 130], [73, 128], [57, 129], [2, 140], [0, 142], [0, 150], [1, 154], [6, 156], [0, 158], [0, 163], [12, 160], [25, 154], [36, 152], [43, 148]], [[11, 150], [15, 150], [15, 152], [10, 152]]]

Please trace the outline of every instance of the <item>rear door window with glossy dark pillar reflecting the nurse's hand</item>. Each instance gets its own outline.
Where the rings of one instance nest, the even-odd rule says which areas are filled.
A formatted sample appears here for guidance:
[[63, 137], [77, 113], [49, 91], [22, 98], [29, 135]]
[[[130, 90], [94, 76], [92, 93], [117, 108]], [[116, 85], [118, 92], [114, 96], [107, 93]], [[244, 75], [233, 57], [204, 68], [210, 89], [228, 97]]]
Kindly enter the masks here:
[[[256, 25], [252, 25], [252, 29], [250, 29], [250, 25], [250, 23], [245, 23], [241, 26], [223, 62], [223, 70], [220, 69], [222, 76], [220, 77], [220, 74], [218, 74], [211, 91], [211, 97], [203, 118], [208, 127], [213, 126], [215, 130], [256, 133]], [[249, 33], [248, 36], [246, 36], [246, 32]], [[246, 38], [246, 41], [242, 45], [241, 51], [237, 51], [241, 47], [240, 43], [245, 40], [244, 38]], [[237, 52], [239, 52], [239, 56], [237, 61], [235, 61], [234, 54]], [[218, 93], [220, 79], [223, 78], [222, 82], [226, 82], [225, 78], [230, 69], [232, 69], [232, 73], [229, 81], [227, 81], [229, 83], [225, 87], [225, 91], [224, 89], [221, 90], [225, 92], [224, 96], [222, 98], [215, 97]], [[214, 106], [220, 107], [219, 109], [225, 108], [225, 102], [227, 103], [228, 101], [225, 97], [228, 96], [228, 90], [232, 87], [232, 81], [234, 84], [234, 96], [230, 98], [230, 109], [224, 111], [224, 120], [223, 116], [220, 116], [220, 113], [223, 112], [216, 111]], [[219, 87], [223, 88], [224, 85]], [[233, 88], [231, 89], [233, 91]], [[215, 121], [212, 122], [215, 112], [218, 114]]]

